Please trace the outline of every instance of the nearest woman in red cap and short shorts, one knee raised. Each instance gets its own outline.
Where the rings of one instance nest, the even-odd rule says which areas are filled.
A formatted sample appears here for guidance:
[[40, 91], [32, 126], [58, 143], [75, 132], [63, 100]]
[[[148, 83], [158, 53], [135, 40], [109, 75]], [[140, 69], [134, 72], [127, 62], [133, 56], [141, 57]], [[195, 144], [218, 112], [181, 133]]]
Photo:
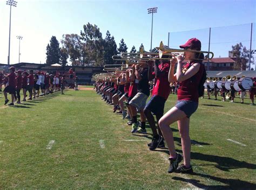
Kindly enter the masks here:
[[[201, 42], [197, 38], [192, 38], [187, 40], [187, 42], [184, 45], [181, 45], [180, 48], [200, 51]], [[185, 57], [189, 62], [183, 66], [183, 60]], [[170, 152], [169, 173], [174, 171], [179, 173], [193, 173], [193, 169], [190, 164], [191, 140], [189, 136], [189, 126], [190, 116], [198, 108], [198, 87], [204, 73], [203, 59], [203, 53], [186, 52], [184, 55], [178, 55], [176, 57], [178, 62], [176, 74], [174, 74], [176, 60], [173, 59], [171, 61], [168, 79], [169, 82], [178, 81], [180, 84], [178, 88], [178, 101], [177, 104], [166, 112], [166, 114], [159, 120], [161, 132], [163, 133]], [[170, 128], [170, 124], [176, 121], [178, 121], [178, 129], [184, 156], [184, 164], [181, 164], [179, 167], [178, 164], [183, 157], [181, 154], [176, 153], [172, 130]]]

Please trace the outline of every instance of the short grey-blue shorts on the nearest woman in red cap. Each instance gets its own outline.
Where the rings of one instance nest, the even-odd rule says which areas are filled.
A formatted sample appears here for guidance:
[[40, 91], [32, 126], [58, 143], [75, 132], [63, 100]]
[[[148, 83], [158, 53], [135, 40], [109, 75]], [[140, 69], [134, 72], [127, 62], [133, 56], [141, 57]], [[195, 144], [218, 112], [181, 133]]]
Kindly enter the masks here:
[[178, 100], [175, 107], [181, 111], [184, 111], [187, 118], [190, 118], [190, 116], [197, 110], [198, 102]]

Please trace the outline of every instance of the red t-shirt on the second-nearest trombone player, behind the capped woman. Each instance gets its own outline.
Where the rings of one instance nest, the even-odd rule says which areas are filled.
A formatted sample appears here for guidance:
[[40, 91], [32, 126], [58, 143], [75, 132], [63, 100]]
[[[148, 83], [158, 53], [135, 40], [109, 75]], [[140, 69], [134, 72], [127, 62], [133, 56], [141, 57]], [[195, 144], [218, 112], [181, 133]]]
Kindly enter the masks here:
[[[168, 81], [170, 64], [162, 62], [160, 65], [158, 65], [158, 68], [161, 71], [161, 73], [154, 80], [152, 96], [158, 95], [160, 97], [165, 98], [165, 100], [167, 100], [167, 98], [171, 92], [170, 83]], [[153, 75], [154, 75], [154, 72], [153, 72]]]

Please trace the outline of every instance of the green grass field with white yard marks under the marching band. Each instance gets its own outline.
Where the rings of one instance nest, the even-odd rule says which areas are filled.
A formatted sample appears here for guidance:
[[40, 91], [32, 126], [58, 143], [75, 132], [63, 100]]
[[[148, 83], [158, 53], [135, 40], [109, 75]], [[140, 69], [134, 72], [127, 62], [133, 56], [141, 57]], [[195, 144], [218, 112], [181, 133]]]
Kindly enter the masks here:
[[[176, 98], [170, 95], [165, 111]], [[132, 135], [100, 99], [92, 90], [66, 90], [8, 107], [0, 93], [0, 189], [256, 188], [256, 106], [249, 100], [200, 99], [190, 126], [195, 174], [186, 175], [167, 173], [167, 149], [146, 146], [151, 130]], [[171, 128], [181, 152], [177, 124]]]

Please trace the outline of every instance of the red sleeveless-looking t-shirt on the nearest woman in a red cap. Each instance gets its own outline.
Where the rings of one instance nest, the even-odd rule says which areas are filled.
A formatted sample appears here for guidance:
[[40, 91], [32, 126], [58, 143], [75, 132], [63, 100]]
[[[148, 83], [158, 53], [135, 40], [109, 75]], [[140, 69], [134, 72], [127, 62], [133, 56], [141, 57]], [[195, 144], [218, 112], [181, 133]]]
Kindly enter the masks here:
[[[190, 64], [187, 63], [183, 68], [188, 68], [189, 65]], [[201, 77], [203, 76], [203, 67], [204, 65], [200, 64], [199, 71], [194, 76], [192, 76], [190, 79], [179, 82], [180, 86], [178, 88], [178, 100], [198, 102], [198, 86]]]

